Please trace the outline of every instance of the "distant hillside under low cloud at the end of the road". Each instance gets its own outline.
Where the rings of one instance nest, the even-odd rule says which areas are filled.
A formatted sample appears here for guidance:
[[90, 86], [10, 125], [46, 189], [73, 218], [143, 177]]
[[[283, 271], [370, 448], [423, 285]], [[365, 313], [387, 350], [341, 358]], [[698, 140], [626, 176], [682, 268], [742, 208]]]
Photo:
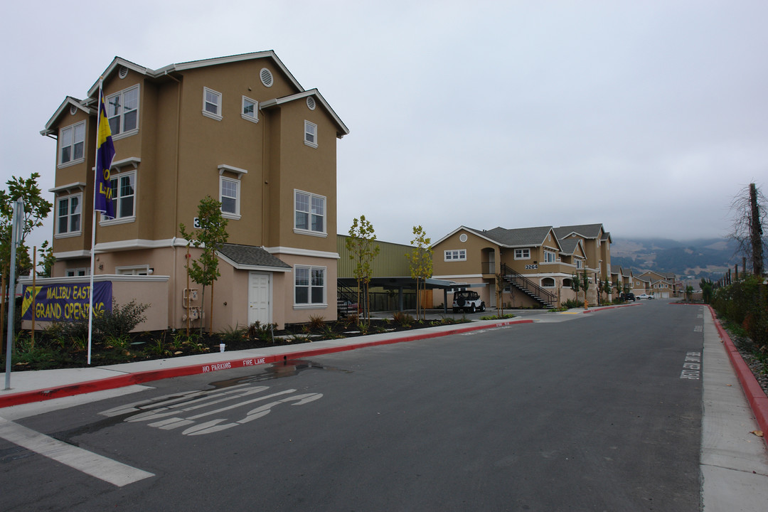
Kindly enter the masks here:
[[674, 273], [678, 279], [698, 282], [701, 278], [720, 279], [741, 257], [736, 256], [733, 240], [714, 238], [678, 242], [670, 239], [614, 238], [611, 244], [611, 268], [630, 268], [635, 273], [646, 270]]

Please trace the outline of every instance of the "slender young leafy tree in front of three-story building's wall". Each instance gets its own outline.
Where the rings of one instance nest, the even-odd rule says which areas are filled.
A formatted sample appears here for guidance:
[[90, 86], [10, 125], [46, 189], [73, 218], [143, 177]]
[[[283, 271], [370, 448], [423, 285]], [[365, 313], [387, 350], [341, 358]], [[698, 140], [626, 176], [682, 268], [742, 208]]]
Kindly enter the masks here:
[[[197, 220], [200, 228], [194, 230], [194, 233], [187, 233], [187, 227], [179, 224], [179, 232], [184, 239], [187, 239], [187, 248], [189, 246], [202, 248], [203, 252], [197, 259], [187, 259], [187, 273], [190, 279], [203, 287], [200, 297], [200, 308], [202, 313], [205, 308], [205, 287], [214, 286], [214, 282], [221, 275], [219, 273], [219, 258], [216, 256], [217, 250], [221, 249], [223, 244], [227, 243], [229, 233], [227, 233], [227, 224], [229, 220], [221, 215], [221, 203], [210, 196], [204, 197], [197, 205]], [[211, 304], [213, 304], [213, 292], [211, 292]], [[213, 309], [213, 306], [211, 306]], [[214, 322], [213, 311], [209, 330], [212, 329]], [[200, 315], [200, 335], [203, 334], [203, 315]]]

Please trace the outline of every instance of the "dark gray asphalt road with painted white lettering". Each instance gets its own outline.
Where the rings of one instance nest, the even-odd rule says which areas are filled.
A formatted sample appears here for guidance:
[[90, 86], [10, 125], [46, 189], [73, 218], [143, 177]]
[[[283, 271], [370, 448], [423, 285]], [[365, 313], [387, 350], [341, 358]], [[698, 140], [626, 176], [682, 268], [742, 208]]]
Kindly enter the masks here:
[[18, 420], [140, 473], [0, 440], [0, 509], [699, 510], [700, 309], [547, 318]]

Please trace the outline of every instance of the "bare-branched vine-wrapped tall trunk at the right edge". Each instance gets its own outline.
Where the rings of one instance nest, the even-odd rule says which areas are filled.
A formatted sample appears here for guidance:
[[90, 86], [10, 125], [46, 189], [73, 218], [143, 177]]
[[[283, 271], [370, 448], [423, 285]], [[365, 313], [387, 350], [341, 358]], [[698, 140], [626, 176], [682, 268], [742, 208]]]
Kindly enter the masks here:
[[752, 263], [755, 276], [762, 276], [765, 269], [765, 255], [768, 253], [768, 243], [763, 236], [763, 226], [768, 222], [768, 199], [750, 183], [731, 202], [733, 212], [733, 233], [731, 238], [736, 240], [738, 251]]

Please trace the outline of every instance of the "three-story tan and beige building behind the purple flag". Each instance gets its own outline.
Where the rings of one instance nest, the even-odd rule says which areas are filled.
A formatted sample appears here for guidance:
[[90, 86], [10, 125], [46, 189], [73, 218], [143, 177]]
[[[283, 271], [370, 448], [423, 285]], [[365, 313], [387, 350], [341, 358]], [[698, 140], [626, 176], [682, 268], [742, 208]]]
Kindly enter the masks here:
[[117, 216], [91, 222], [97, 80], [84, 100], [66, 97], [41, 131], [56, 140], [54, 278], [88, 274], [95, 229], [94, 279], [166, 283], [147, 325], [183, 327], [202, 304], [200, 286], [187, 286], [179, 225], [192, 230], [210, 196], [229, 220], [213, 310], [206, 290], [214, 331], [335, 319], [336, 140], [349, 130], [319, 91], [305, 90], [273, 51], [156, 70], [114, 58], [102, 76]]

